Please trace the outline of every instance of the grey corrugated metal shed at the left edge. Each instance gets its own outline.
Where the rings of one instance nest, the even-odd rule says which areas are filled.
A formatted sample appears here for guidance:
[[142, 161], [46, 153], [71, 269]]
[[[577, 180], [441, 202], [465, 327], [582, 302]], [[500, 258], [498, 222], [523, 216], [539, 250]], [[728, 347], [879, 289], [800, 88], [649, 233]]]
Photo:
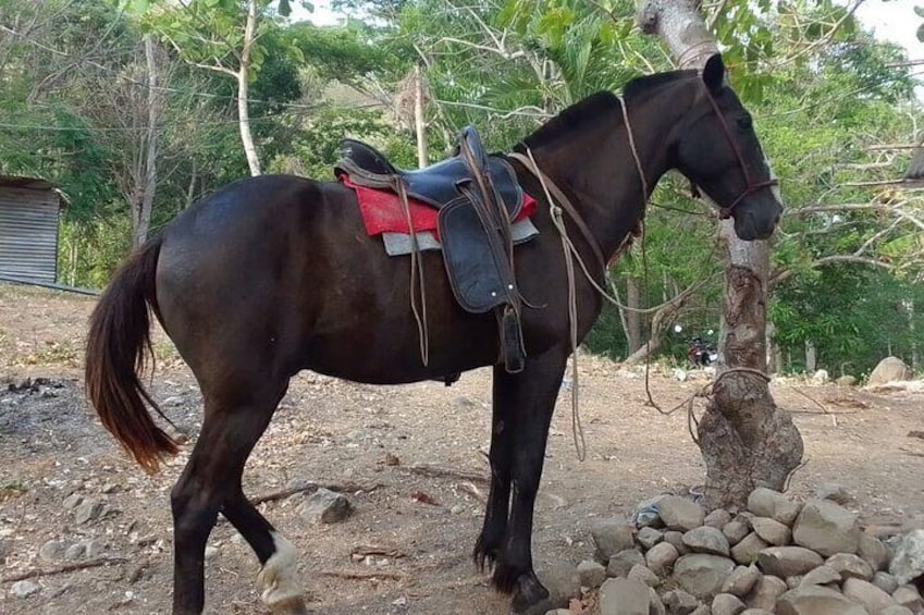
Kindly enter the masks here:
[[0, 274], [56, 282], [60, 209], [48, 182], [0, 175]]

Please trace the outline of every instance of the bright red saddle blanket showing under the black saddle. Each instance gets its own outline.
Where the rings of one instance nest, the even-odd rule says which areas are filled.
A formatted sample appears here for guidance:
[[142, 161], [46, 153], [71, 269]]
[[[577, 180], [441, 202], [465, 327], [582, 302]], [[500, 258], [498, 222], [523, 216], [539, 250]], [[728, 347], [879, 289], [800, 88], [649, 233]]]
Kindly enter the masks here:
[[[359, 211], [362, 213], [362, 223], [370, 236], [381, 233], [410, 233], [410, 229], [407, 226], [407, 218], [396, 194], [391, 190], [358, 186], [350, 182], [346, 174], [341, 174], [340, 181], [356, 193], [356, 198], [359, 200]], [[416, 233], [430, 231], [439, 238], [436, 231], [439, 210], [414, 198], [408, 198], [407, 205], [410, 210], [414, 231]], [[523, 206], [514, 222], [529, 218], [535, 213], [537, 207], [535, 199], [523, 193]]]

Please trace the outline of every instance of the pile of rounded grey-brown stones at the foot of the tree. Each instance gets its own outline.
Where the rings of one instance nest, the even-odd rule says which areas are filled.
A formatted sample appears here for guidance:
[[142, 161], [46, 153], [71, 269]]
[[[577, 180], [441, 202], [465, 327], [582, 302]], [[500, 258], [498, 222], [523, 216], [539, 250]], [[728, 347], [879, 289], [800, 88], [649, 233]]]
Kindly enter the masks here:
[[756, 489], [732, 515], [664, 496], [633, 520], [593, 528], [595, 561], [578, 566], [582, 586], [600, 586], [601, 615], [924, 613], [916, 548], [899, 540], [892, 557], [829, 500]]

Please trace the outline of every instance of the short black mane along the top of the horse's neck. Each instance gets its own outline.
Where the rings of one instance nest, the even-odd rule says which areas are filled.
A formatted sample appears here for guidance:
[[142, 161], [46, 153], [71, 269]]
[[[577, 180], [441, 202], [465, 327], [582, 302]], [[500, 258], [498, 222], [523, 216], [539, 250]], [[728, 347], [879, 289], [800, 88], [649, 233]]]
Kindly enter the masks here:
[[[623, 86], [623, 97], [626, 100], [631, 100], [690, 73], [691, 71], [670, 71], [636, 77]], [[517, 149], [525, 149], [525, 147], [535, 149], [550, 142], [557, 140], [563, 135], [574, 135], [576, 131], [597, 122], [599, 118], [607, 116], [609, 113], [616, 113], [621, 119], [620, 104], [619, 98], [612, 91], [604, 90], [592, 94], [552, 118], [538, 131], [526, 137]]]

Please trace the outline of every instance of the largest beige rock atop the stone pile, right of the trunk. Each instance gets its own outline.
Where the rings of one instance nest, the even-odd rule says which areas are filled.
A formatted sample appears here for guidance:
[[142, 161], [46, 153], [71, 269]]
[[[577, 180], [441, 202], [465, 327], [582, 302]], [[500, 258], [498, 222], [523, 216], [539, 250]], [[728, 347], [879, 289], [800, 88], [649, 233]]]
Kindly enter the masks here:
[[792, 526], [792, 542], [825, 557], [857, 553], [860, 546], [857, 515], [827, 500], [809, 500]]

